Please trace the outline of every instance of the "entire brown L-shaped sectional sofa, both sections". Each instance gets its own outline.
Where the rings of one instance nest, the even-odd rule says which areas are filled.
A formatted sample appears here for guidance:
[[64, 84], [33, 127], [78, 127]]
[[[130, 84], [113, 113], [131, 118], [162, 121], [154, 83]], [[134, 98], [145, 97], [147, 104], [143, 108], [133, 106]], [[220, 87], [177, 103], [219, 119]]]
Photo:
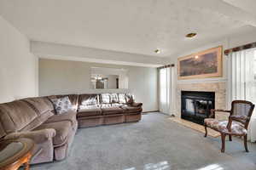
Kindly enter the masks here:
[[[50, 99], [67, 96], [72, 110], [56, 114]], [[0, 104], [0, 139], [34, 140], [31, 163], [63, 160], [78, 127], [141, 120], [142, 104], [129, 94], [67, 94]]]

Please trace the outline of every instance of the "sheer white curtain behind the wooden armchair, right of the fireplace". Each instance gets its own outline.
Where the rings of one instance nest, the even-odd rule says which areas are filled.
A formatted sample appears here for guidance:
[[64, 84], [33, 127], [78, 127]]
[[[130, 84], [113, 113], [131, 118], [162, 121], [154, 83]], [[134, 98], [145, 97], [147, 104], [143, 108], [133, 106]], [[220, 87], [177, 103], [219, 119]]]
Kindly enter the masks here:
[[[256, 104], [256, 48], [229, 54], [228, 61], [228, 105], [232, 100], [248, 100]], [[256, 109], [255, 109], [256, 110]], [[248, 137], [256, 141], [256, 111], [249, 123]]]

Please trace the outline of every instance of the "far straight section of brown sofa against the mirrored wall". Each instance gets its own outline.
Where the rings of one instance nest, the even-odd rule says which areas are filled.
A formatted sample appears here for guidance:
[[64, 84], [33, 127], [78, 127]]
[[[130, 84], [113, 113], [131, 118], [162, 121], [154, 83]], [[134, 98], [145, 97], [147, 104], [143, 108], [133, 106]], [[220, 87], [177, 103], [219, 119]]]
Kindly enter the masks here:
[[122, 122], [138, 122], [142, 103], [135, 103], [129, 94], [79, 95], [79, 127], [94, 127]]

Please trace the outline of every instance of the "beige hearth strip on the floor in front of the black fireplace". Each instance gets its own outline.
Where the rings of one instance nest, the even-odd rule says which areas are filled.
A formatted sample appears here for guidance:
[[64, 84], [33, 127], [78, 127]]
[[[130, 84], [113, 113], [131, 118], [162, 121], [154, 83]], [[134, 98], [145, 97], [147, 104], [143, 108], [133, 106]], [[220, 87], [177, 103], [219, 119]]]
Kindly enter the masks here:
[[[169, 117], [168, 119], [170, 119], [172, 122], [177, 122], [185, 127], [194, 129], [198, 132], [205, 133], [205, 127], [200, 124], [197, 124], [195, 122], [189, 122], [189, 121], [186, 121], [186, 120], [184, 120], [182, 118], [178, 118], [178, 117]], [[210, 128], [207, 128], [207, 130], [208, 130], [208, 135], [212, 136], [213, 138], [217, 138], [218, 136], [220, 136], [220, 133], [218, 133]]]

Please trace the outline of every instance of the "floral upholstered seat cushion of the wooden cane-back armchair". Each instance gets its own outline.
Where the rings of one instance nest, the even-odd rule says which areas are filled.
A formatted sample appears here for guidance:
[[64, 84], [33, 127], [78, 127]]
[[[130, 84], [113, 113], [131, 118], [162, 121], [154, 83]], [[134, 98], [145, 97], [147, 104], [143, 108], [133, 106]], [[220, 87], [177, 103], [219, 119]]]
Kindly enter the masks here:
[[218, 121], [213, 118], [207, 118], [205, 119], [205, 124], [207, 127], [211, 127], [212, 129], [215, 129], [222, 133], [227, 134], [237, 134], [237, 135], [244, 135], [247, 134], [247, 129], [243, 127], [243, 125], [240, 122], [232, 122], [231, 125], [231, 131], [229, 132], [229, 129], [227, 128], [228, 121]]

